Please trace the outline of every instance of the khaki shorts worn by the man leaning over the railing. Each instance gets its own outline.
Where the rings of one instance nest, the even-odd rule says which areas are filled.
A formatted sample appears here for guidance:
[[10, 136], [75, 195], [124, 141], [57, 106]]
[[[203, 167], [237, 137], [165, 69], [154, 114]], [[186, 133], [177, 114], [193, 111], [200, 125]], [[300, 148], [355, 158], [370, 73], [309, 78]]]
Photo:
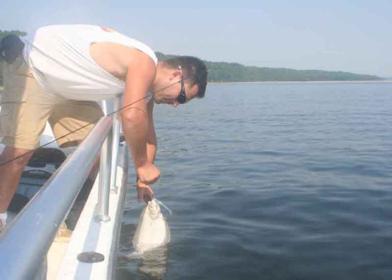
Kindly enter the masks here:
[[[3, 62], [3, 86], [0, 137], [6, 146], [34, 150], [39, 147], [47, 121], [55, 138], [59, 138], [103, 116], [96, 102], [67, 100], [44, 92], [22, 56], [12, 64]], [[77, 145], [93, 127], [94, 124], [73, 132], [57, 140], [57, 144]]]

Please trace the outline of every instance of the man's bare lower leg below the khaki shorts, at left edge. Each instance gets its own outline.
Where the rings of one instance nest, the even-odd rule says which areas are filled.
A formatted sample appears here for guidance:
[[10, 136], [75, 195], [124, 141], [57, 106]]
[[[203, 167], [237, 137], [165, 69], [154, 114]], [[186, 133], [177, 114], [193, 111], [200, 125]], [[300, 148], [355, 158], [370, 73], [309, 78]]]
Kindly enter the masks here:
[[[30, 159], [30, 150], [5, 147], [0, 155], [0, 212], [6, 212], [18, 187], [22, 172]], [[19, 157], [23, 155], [22, 157]], [[15, 160], [13, 158], [19, 157]], [[10, 161], [9, 161], [10, 160]], [[8, 163], [5, 163], [9, 161]], [[5, 163], [5, 164], [4, 164]]]

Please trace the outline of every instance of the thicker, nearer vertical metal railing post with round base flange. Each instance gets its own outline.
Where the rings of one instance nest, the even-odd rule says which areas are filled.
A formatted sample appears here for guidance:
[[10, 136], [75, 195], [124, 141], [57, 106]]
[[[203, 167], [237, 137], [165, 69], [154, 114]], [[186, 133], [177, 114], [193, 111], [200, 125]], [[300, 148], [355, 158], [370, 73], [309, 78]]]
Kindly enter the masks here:
[[[107, 101], [102, 101], [102, 111], [107, 116]], [[111, 155], [112, 155], [113, 134], [109, 132], [103, 142], [100, 161], [99, 161], [99, 189], [98, 189], [98, 215], [94, 220], [98, 223], [110, 221], [109, 213], [109, 196], [110, 196], [110, 172], [111, 172]]]

